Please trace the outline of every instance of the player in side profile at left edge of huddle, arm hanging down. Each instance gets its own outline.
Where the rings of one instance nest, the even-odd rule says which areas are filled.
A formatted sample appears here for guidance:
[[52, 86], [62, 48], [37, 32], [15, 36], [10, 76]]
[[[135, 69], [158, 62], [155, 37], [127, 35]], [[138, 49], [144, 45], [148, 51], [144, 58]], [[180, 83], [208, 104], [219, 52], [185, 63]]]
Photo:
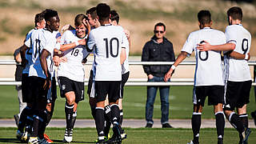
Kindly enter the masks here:
[[49, 111], [46, 110], [46, 104], [47, 93], [51, 87], [51, 78], [54, 72], [52, 58], [54, 46], [57, 42], [54, 31], [57, 31], [59, 27], [58, 12], [47, 9], [44, 18], [46, 20], [46, 28], [34, 30], [22, 49], [24, 58], [24, 51], [29, 47], [32, 48], [29, 77], [33, 95], [34, 122], [28, 143], [48, 143], [43, 136], [43, 131], [50, 115]]

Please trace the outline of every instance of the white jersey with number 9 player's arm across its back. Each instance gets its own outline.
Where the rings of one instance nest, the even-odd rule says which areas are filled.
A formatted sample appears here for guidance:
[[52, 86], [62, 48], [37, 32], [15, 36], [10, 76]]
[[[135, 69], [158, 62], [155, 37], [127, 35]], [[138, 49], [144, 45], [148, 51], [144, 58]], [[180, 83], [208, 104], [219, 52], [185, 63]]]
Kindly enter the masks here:
[[209, 42], [210, 45], [222, 45], [226, 43], [226, 38], [222, 31], [210, 27], [190, 33], [182, 51], [188, 54], [195, 51], [194, 86], [224, 86], [221, 52], [198, 50], [197, 44], [203, 41]]

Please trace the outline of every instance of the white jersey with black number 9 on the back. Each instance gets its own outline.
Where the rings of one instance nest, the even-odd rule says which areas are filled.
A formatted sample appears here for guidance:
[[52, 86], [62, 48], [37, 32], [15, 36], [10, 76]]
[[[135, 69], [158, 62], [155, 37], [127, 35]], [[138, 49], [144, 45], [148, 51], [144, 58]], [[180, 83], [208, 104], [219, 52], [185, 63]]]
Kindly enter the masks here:
[[[226, 42], [235, 44], [235, 52], [248, 54], [250, 51], [250, 32], [242, 25], [226, 26]], [[250, 68], [244, 59], [234, 59], [225, 55], [226, 80], [232, 82], [243, 82], [251, 80]]]

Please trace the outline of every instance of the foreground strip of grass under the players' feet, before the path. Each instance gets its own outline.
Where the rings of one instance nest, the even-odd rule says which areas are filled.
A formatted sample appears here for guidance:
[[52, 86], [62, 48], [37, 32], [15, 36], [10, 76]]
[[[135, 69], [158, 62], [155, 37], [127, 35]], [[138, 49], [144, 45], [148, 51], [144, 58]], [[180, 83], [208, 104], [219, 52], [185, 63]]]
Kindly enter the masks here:
[[[15, 138], [14, 128], [0, 128], [0, 143], [18, 143]], [[125, 129], [128, 138], [122, 143], [146, 143], [146, 144], [186, 144], [191, 140], [192, 130], [190, 129]], [[47, 128], [46, 134], [54, 141], [54, 143], [63, 143], [62, 138], [64, 129]], [[199, 141], [203, 144], [216, 144], [217, 136], [215, 129], [202, 129]], [[72, 143], [94, 143], [96, 139], [96, 130], [93, 128], [75, 129], [73, 133], [74, 142]], [[256, 142], [256, 130], [250, 134], [249, 142]], [[224, 143], [238, 143], [238, 133], [234, 129], [225, 129]]]

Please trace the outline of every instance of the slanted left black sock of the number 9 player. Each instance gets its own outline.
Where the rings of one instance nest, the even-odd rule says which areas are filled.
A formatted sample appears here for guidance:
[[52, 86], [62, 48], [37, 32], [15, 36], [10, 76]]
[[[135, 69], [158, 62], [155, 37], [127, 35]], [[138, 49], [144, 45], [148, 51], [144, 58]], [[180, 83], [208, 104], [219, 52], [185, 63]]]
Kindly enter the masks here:
[[242, 124], [241, 119], [238, 117], [238, 114], [235, 114], [234, 112], [232, 112], [229, 116], [229, 121], [231, 125], [234, 126], [236, 130], [238, 130], [239, 134], [242, 134], [245, 128]]

